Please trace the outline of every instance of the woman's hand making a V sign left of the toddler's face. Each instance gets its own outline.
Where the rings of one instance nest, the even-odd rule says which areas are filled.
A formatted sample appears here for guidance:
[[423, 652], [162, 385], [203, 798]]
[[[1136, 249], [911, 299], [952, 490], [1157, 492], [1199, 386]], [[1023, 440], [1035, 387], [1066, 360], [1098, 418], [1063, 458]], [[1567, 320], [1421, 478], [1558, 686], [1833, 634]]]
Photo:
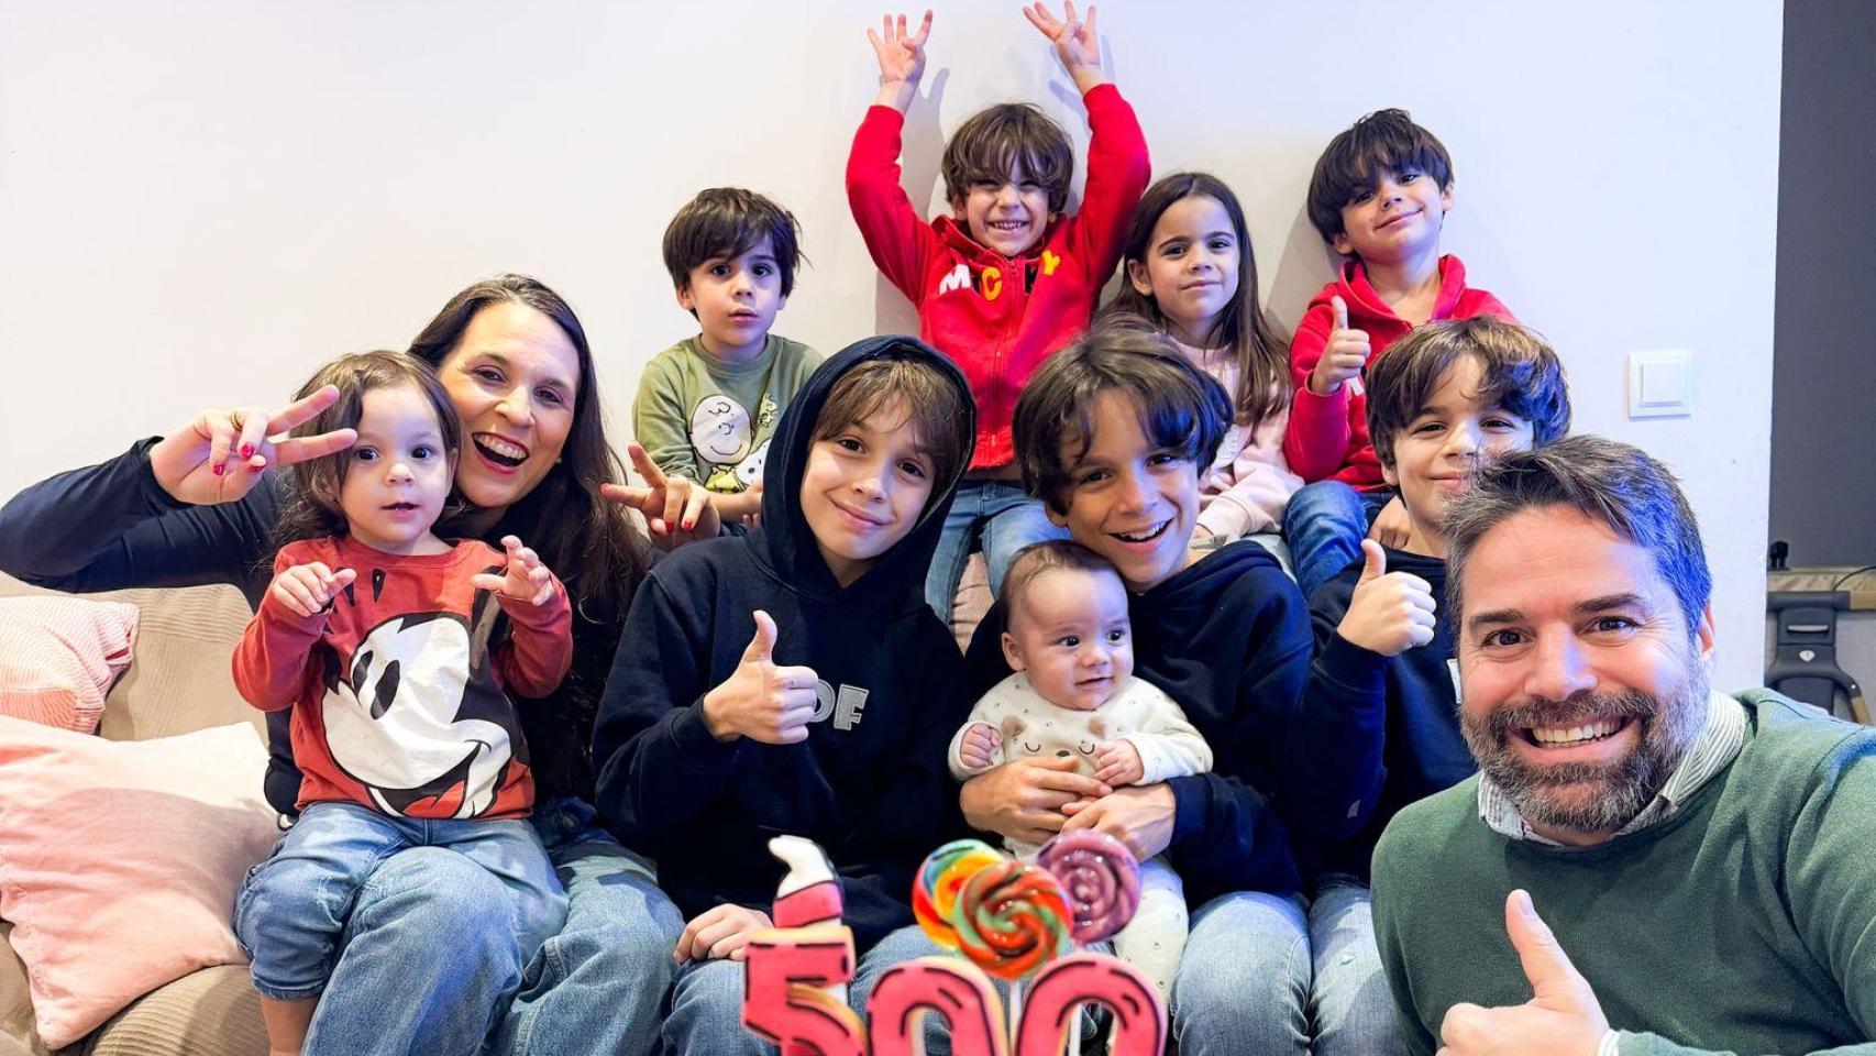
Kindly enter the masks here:
[[[341, 452], [358, 441], [355, 430], [317, 437], [285, 437], [340, 398], [336, 385], [285, 407], [203, 411], [150, 448], [150, 473], [178, 503], [212, 506], [246, 495], [274, 465]], [[272, 439], [280, 437], [280, 439]]]

